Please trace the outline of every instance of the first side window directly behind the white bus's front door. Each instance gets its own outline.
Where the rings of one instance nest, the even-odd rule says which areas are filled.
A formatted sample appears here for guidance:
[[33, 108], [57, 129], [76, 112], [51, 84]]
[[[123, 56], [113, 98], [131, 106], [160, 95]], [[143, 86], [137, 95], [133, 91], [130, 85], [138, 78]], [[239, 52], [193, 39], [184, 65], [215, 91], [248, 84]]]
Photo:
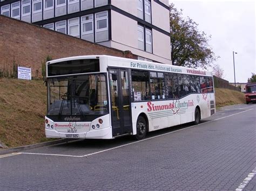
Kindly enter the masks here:
[[134, 101], [150, 100], [149, 72], [132, 70], [132, 91]]

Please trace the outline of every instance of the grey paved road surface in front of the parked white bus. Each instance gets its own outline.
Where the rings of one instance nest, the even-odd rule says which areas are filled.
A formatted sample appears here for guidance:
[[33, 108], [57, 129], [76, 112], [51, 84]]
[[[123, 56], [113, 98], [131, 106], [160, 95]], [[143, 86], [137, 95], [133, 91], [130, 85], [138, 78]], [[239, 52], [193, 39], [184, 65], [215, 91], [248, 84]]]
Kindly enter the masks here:
[[256, 190], [255, 129], [256, 104], [234, 105], [142, 141], [79, 140], [0, 155], [0, 190]]

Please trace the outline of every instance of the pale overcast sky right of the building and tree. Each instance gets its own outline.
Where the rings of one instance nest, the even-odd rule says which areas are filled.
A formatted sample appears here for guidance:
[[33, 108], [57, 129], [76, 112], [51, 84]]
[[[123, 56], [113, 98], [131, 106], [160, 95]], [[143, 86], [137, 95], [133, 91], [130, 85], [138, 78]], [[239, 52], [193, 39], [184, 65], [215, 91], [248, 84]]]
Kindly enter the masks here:
[[183, 9], [183, 16], [198, 23], [198, 30], [212, 36], [209, 41], [215, 55], [214, 62], [224, 69], [224, 79], [234, 82], [233, 53], [235, 61], [235, 81], [247, 82], [256, 74], [255, 62], [255, 2], [228, 0], [184, 1], [171, 0], [175, 7]]

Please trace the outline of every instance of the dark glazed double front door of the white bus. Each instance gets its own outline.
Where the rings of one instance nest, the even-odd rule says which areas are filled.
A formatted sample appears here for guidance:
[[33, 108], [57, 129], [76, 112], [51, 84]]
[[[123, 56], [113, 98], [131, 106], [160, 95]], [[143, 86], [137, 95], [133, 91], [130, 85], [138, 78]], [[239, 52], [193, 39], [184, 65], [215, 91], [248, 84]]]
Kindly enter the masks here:
[[128, 71], [109, 69], [113, 136], [132, 132]]

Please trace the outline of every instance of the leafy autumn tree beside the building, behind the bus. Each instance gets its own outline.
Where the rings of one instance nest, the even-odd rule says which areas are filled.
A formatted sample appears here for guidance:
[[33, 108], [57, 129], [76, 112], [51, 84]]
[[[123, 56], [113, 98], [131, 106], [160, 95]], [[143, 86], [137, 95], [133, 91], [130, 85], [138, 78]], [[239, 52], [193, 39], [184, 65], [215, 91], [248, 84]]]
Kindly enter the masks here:
[[182, 10], [170, 5], [171, 59], [173, 65], [191, 68], [211, 66], [217, 58], [208, 45], [206, 33], [199, 32], [198, 24], [191, 18], [183, 18]]

